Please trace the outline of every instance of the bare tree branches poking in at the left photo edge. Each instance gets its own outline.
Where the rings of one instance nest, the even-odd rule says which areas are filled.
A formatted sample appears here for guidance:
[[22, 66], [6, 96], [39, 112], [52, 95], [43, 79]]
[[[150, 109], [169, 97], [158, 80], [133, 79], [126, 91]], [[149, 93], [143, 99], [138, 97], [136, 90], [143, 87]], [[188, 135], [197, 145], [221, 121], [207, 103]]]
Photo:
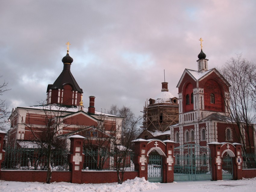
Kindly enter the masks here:
[[[0, 76], [2, 77], [2, 76]], [[0, 95], [3, 95], [7, 89], [8, 82], [5, 81], [0, 85]], [[10, 111], [8, 110], [8, 105], [5, 103], [5, 100], [0, 99], [0, 130], [5, 130], [5, 125], [7, 125], [7, 119], [10, 115]]]

